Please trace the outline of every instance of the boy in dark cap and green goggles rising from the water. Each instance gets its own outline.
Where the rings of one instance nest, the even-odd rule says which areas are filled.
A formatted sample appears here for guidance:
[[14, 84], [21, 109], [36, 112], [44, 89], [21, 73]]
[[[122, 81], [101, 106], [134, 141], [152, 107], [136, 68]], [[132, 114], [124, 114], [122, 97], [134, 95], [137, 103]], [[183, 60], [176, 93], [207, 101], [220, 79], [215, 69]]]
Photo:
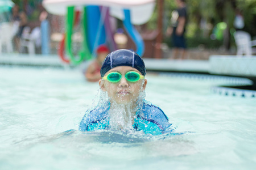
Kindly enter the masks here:
[[130, 50], [108, 54], [101, 67], [100, 88], [106, 100], [88, 111], [79, 130], [134, 130], [159, 135], [174, 128], [163, 111], [144, 100], [147, 79], [144, 62]]

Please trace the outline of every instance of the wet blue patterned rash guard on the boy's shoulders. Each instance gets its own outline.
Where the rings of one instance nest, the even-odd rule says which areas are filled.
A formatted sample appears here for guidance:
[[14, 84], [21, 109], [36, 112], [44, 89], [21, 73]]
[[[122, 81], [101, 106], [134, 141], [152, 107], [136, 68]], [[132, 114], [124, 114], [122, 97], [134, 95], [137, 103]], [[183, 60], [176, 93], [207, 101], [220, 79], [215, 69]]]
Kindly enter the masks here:
[[[102, 129], [111, 129], [109, 125], [108, 111], [109, 107], [96, 107], [82, 118], [79, 130], [94, 131]], [[134, 118], [133, 128], [137, 131], [143, 131], [144, 134], [160, 135], [171, 132], [175, 129], [164, 112], [146, 101], [143, 102], [142, 114], [137, 114]]]

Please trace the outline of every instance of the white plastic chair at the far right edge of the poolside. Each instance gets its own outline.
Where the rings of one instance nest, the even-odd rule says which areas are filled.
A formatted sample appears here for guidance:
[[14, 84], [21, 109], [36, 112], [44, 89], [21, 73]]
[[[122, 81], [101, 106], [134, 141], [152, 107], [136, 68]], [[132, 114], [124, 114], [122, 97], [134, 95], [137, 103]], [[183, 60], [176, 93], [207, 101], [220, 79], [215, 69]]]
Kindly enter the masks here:
[[237, 45], [237, 56], [251, 56], [253, 53], [256, 53], [256, 40], [251, 41], [251, 36], [245, 31], [236, 31], [234, 33], [234, 39]]

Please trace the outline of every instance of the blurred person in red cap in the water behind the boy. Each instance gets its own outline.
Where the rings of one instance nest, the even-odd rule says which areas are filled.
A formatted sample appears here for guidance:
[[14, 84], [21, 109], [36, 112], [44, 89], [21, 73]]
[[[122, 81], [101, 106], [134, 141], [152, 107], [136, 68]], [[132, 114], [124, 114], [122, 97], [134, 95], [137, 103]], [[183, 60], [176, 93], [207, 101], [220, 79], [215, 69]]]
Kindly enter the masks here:
[[87, 70], [85, 71], [85, 78], [89, 82], [98, 82], [101, 79], [101, 66], [102, 62], [108, 56], [109, 49], [105, 45], [98, 46], [96, 59], [90, 63]]

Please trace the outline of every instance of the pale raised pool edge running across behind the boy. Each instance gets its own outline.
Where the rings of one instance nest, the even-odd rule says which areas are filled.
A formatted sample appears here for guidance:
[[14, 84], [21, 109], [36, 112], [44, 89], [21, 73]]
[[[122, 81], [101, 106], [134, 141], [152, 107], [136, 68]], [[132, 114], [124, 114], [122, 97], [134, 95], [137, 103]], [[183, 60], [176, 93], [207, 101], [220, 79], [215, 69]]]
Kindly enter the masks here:
[[[148, 71], [256, 77], [256, 56], [210, 56], [209, 59], [143, 58]], [[90, 62], [90, 61], [89, 61]], [[89, 62], [80, 65], [86, 67]], [[0, 65], [69, 67], [57, 55], [0, 54]], [[71, 66], [72, 67], [72, 66]], [[74, 67], [74, 66], [73, 66]]]

